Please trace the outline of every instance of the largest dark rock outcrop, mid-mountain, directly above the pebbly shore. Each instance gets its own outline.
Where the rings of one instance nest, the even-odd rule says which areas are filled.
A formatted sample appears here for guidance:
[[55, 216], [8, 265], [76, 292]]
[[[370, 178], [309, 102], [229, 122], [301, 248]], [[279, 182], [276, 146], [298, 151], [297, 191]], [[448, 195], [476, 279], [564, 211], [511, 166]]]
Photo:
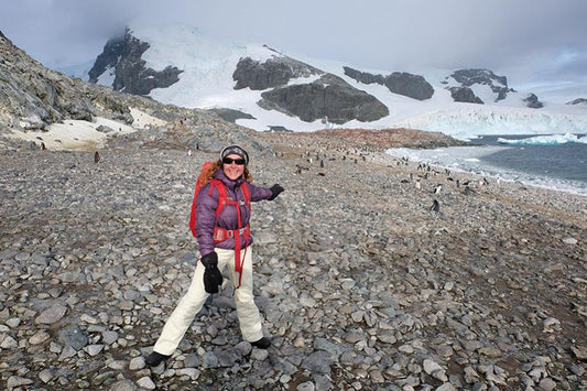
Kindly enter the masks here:
[[312, 122], [328, 118], [333, 123], [376, 121], [389, 115], [385, 105], [331, 74], [311, 84], [278, 87], [261, 95], [259, 106]]

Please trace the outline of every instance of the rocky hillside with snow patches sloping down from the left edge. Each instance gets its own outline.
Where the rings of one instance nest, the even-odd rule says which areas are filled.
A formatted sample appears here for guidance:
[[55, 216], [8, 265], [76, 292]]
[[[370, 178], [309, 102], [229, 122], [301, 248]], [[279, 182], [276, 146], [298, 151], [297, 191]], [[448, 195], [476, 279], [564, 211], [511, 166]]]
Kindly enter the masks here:
[[[0, 145], [104, 148], [108, 139], [140, 137], [161, 145], [217, 150], [241, 142], [261, 151], [250, 129], [211, 111], [163, 105], [45, 68], [0, 34]], [[169, 124], [169, 126], [167, 126]], [[170, 130], [171, 129], [171, 130]], [[267, 146], [267, 145], [265, 145]]]

